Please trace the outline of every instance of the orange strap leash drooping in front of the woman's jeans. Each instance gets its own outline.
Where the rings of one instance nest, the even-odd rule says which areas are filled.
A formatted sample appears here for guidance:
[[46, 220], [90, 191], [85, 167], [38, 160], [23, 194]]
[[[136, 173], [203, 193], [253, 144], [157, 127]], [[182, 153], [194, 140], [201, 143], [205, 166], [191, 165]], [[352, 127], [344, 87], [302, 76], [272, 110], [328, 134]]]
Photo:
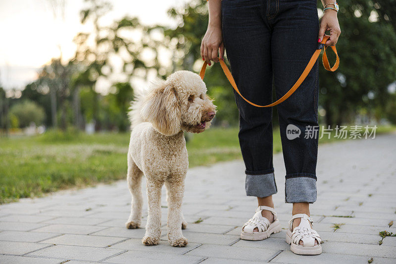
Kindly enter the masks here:
[[[238, 87], [234, 81], [234, 78], [231, 75], [230, 70], [228, 69], [227, 65], [225, 64], [225, 62], [221, 59], [219, 59], [220, 61], [220, 65], [221, 68], [224, 71], [224, 74], [226, 75], [228, 81], [231, 83], [232, 87], [234, 88], [234, 90], [250, 105], [252, 106], [257, 106], [257, 107], [270, 107], [270, 106], [276, 106], [280, 103], [282, 103], [283, 101], [285, 101], [286, 99], [288, 99], [296, 90], [297, 88], [301, 85], [301, 83], [304, 81], [304, 79], [306, 78], [306, 76], [308, 75], [308, 73], [311, 71], [313, 65], [315, 64], [316, 60], [319, 57], [320, 51], [323, 49], [323, 55], [322, 55], [322, 62], [323, 62], [323, 66], [325, 67], [326, 70], [328, 71], [335, 71], [338, 68], [338, 65], [340, 64], [340, 58], [338, 57], [338, 53], [336, 50], [336, 46], [331, 46], [331, 49], [333, 50], [333, 52], [336, 54], [337, 59], [336, 59], [336, 63], [334, 63], [333, 67], [330, 67], [329, 64], [329, 60], [327, 58], [326, 55], [326, 49], [327, 47], [324, 46], [324, 44], [326, 43], [326, 41], [330, 38], [330, 36], [325, 35], [323, 37], [323, 40], [318, 44], [318, 48], [315, 51], [315, 53], [313, 53], [311, 59], [308, 62], [308, 65], [306, 65], [304, 71], [302, 72], [301, 76], [298, 78], [297, 82], [293, 85], [292, 88], [290, 88], [290, 90], [284, 95], [282, 96], [280, 99], [278, 99], [277, 101], [275, 101], [274, 103], [270, 104], [270, 105], [266, 105], [266, 106], [260, 106], [260, 105], [256, 105], [252, 102], [250, 102], [249, 100], [247, 100], [242, 94], [241, 92], [238, 90]], [[203, 80], [203, 77], [205, 76], [205, 70], [206, 70], [206, 65], [207, 62], [203, 62], [201, 71], [199, 72], [199, 76], [201, 77], [201, 79]]]

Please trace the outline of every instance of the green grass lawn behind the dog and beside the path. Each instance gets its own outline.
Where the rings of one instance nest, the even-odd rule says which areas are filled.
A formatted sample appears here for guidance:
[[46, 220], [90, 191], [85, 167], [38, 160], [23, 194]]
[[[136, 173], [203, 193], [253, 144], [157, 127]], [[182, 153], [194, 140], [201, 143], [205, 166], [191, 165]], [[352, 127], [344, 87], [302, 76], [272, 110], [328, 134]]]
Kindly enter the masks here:
[[[382, 127], [377, 134], [394, 130]], [[190, 167], [242, 158], [237, 128], [188, 134]], [[321, 143], [334, 139], [322, 139]], [[0, 204], [59, 189], [123, 179], [129, 133], [47, 132], [36, 137], [0, 138]], [[274, 131], [274, 152], [282, 150]]]

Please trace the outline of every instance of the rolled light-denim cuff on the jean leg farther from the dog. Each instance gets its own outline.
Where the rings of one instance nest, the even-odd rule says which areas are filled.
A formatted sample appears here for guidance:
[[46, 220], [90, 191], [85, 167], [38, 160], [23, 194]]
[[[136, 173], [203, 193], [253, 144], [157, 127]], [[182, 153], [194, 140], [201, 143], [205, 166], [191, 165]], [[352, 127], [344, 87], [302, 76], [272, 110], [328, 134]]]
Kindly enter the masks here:
[[309, 173], [286, 175], [285, 202], [313, 203], [316, 201], [316, 176]]

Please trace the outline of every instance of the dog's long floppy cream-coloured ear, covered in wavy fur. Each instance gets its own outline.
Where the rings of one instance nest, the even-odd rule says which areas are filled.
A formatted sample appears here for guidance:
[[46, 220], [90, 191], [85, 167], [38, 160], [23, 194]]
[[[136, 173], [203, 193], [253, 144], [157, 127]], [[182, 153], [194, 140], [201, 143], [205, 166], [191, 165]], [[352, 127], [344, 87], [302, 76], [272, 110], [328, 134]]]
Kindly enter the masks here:
[[181, 131], [181, 110], [176, 90], [165, 82], [151, 90], [141, 114], [161, 134], [171, 136]]

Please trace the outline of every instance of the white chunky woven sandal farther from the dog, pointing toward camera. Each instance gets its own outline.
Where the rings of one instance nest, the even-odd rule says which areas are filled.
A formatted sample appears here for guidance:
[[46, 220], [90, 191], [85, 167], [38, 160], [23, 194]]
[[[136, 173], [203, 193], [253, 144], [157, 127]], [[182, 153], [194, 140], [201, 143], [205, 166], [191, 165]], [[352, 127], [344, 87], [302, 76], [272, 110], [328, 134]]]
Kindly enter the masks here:
[[[301, 218], [301, 222], [292, 229], [293, 220], [296, 218]], [[290, 245], [290, 250], [293, 253], [298, 255], [319, 255], [322, 253], [322, 245], [320, 245], [322, 240], [319, 234], [311, 228], [309, 223], [312, 222], [312, 217], [309, 217], [305, 213], [297, 213], [290, 219], [289, 228], [286, 233], [286, 243]], [[300, 240], [303, 246], [299, 245]], [[318, 245], [316, 246], [315, 240], [318, 241]]]

